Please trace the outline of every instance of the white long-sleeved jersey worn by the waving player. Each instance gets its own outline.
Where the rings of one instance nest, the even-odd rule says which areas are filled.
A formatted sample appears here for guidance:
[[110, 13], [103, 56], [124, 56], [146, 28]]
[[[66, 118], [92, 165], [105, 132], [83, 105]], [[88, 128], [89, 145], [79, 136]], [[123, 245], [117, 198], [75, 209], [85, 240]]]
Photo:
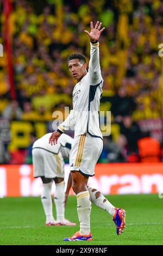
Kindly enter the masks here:
[[74, 137], [85, 132], [102, 138], [99, 128], [99, 104], [103, 78], [99, 64], [99, 43], [91, 44], [89, 71], [73, 89], [73, 110], [58, 129], [62, 132], [74, 125]]

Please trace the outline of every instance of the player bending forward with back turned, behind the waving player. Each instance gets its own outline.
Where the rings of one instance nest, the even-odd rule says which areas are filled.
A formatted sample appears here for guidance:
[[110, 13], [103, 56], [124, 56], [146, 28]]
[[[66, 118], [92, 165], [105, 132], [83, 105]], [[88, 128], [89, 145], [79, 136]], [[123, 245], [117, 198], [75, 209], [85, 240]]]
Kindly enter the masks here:
[[[64, 159], [68, 159], [73, 139], [63, 134], [57, 145], [49, 145], [48, 139], [52, 133], [47, 133], [33, 144], [32, 156], [34, 177], [41, 177], [43, 189], [41, 202], [46, 215], [46, 225], [76, 225], [65, 219], [65, 182]], [[57, 221], [53, 217], [52, 183], [55, 182], [55, 208]]]

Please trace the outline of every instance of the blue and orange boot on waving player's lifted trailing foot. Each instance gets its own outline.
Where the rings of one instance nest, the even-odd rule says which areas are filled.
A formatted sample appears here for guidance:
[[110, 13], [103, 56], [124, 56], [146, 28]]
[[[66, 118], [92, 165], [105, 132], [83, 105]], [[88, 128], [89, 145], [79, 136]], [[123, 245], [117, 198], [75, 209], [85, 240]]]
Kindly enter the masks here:
[[126, 211], [120, 208], [115, 208], [115, 215], [113, 217], [113, 221], [116, 225], [117, 235], [121, 235], [123, 233], [123, 229], [125, 227], [125, 218], [126, 218]]

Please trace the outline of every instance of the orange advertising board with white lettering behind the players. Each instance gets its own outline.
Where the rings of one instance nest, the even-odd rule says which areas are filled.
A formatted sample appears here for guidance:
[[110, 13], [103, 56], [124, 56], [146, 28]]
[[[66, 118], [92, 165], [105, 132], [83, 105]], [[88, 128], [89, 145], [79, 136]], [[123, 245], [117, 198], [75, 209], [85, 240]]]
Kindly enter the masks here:
[[[99, 163], [95, 173], [89, 185], [103, 194], [159, 193], [163, 190], [163, 163]], [[66, 164], [66, 182], [68, 175], [69, 165]], [[41, 189], [40, 178], [33, 178], [32, 165], [0, 166], [1, 198], [40, 196]]]

